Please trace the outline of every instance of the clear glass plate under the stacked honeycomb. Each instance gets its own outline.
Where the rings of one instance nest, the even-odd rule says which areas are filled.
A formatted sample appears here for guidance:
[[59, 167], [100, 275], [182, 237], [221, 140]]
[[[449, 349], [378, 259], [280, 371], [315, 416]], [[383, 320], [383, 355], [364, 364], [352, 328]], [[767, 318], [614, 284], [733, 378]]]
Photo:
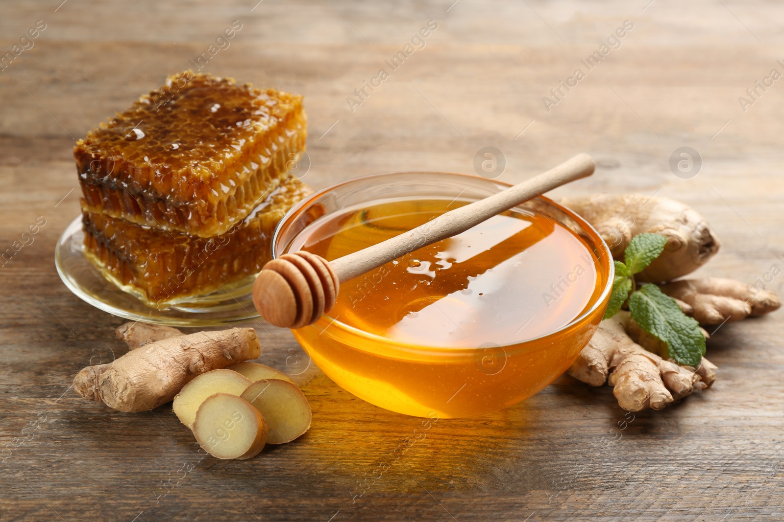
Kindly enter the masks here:
[[216, 326], [259, 317], [252, 301], [253, 280], [245, 278], [225, 291], [194, 297], [158, 310], [110, 283], [84, 255], [82, 217], [74, 219], [57, 241], [54, 261], [60, 279], [77, 297], [100, 310], [133, 321], [170, 326]]

